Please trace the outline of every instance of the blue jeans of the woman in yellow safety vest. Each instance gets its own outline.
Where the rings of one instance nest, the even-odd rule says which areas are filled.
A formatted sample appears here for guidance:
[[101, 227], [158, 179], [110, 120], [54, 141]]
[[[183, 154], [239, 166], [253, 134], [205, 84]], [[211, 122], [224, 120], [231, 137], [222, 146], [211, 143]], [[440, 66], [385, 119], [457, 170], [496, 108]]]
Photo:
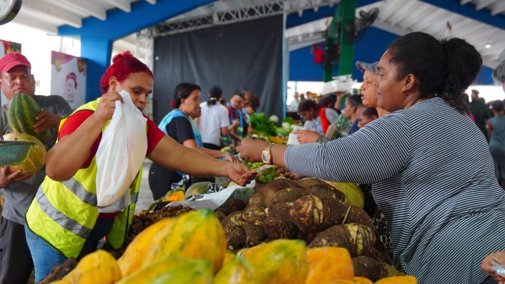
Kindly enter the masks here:
[[[85, 255], [96, 250], [98, 242], [104, 239], [104, 236], [111, 230], [114, 218], [97, 219], [96, 224], [91, 230], [81, 253], [77, 257], [80, 260]], [[35, 266], [35, 283], [44, 279], [51, 271], [53, 266], [62, 264], [67, 257], [57, 251], [51, 245], [47, 244], [42, 238], [33, 233], [25, 224], [26, 242], [30, 248], [30, 253]]]

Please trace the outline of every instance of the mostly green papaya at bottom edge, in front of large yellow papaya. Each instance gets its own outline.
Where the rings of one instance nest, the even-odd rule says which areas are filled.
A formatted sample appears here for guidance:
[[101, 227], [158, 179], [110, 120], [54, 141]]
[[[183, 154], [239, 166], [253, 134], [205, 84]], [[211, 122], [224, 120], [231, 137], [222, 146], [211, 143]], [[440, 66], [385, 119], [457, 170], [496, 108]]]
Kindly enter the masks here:
[[116, 284], [209, 284], [212, 263], [206, 259], [167, 257], [150, 263]]

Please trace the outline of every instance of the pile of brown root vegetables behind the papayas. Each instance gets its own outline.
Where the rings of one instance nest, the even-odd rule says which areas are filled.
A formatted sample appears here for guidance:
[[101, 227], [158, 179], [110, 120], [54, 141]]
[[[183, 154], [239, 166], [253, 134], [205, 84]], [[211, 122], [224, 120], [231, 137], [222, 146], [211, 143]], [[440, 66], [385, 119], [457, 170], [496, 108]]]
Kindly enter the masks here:
[[222, 220], [227, 249], [239, 252], [276, 239], [304, 240], [310, 248], [349, 251], [356, 276], [385, 277], [383, 255], [375, 249], [372, 219], [363, 208], [345, 203], [345, 194], [316, 179], [276, 179], [255, 187], [241, 211]]

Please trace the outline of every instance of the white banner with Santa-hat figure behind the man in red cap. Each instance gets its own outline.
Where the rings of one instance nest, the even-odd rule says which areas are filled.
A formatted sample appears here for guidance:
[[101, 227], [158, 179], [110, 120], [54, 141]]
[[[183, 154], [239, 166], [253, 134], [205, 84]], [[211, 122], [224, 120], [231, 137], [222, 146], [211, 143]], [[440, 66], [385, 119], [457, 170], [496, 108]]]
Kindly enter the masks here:
[[53, 51], [51, 53], [51, 93], [65, 98], [72, 109], [84, 104], [86, 60]]

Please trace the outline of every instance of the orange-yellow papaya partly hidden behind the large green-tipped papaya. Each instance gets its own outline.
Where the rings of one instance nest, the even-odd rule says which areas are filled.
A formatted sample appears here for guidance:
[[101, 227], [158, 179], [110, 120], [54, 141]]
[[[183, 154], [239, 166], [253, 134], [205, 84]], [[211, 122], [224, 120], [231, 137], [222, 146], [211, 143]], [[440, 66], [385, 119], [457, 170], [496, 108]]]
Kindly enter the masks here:
[[140, 269], [143, 265], [145, 254], [151, 249], [151, 242], [153, 238], [163, 229], [169, 229], [173, 223], [174, 218], [167, 218], [160, 220], [139, 233], [135, 239], [128, 245], [123, 256], [118, 259], [119, 268], [123, 277]]

